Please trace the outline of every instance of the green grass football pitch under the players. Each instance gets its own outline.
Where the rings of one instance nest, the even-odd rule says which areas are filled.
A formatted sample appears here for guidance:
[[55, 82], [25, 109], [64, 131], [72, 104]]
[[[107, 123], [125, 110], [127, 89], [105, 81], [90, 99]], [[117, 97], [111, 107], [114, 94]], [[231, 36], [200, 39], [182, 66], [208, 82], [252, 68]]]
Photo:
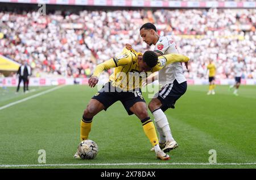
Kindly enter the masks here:
[[[27, 94], [1, 88], [0, 108], [52, 88], [31, 87], [35, 91]], [[120, 102], [93, 119], [89, 139], [99, 147], [96, 159], [75, 160], [81, 116], [96, 88], [64, 86], [3, 108], [0, 168], [256, 168], [256, 86], [241, 86], [238, 97], [228, 86], [217, 86], [216, 95], [207, 91], [208, 86], [188, 86], [175, 109], [166, 111], [179, 144], [169, 161], [150, 152], [141, 122]], [[46, 150], [46, 164], [26, 166], [40, 165], [39, 149]], [[217, 152], [217, 165], [208, 165], [210, 149]]]

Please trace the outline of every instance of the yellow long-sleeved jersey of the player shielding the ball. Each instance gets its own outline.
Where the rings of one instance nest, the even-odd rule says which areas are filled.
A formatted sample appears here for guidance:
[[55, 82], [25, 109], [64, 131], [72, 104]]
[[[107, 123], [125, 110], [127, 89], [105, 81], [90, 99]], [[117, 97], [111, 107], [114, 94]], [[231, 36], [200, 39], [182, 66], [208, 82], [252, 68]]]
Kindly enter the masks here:
[[[134, 89], [141, 88], [142, 81], [145, 81], [147, 78], [147, 73], [139, 72], [138, 65], [138, 56], [142, 53], [130, 51], [126, 48], [123, 48], [122, 53], [111, 58], [108, 61], [105, 61], [96, 66], [93, 76], [100, 76], [100, 73], [103, 70], [115, 68], [114, 72], [109, 77], [110, 82], [115, 87], [119, 87], [123, 91], [129, 91]], [[158, 57], [158, 64], [151, 69], [151, 72], [156, 72], [167, 64], [175, 62], [187, 62], [189, 58], [184, 55], [179, 54], [170, 54]]]

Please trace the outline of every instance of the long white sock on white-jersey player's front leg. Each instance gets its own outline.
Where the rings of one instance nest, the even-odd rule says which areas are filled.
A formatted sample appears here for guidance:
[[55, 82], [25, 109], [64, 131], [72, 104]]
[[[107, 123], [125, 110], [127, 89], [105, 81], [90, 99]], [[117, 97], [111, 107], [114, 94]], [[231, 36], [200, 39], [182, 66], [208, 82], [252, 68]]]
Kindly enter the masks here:
[[[163, 132], [163, 135], [166, 136], [165, 139], [166, 141], [173, 141], [174, 138], [172, 137], [172, 133], [171, 133], [171, 129], [167, 120], [166, 115], [164, 114], [164, 112], [161, 109], [158, 109], [156, 111], [154, 111], [152, 113], [154, 115], [155, 118], [155, 123], [156, 123], [156, 127], [161, 129]], [[159, 132], [159, 136], [161, 138], [162, 135], [160, 135], [160, 131]], [[162, 143], [162, 140], [159, 140], [159, 142]]]

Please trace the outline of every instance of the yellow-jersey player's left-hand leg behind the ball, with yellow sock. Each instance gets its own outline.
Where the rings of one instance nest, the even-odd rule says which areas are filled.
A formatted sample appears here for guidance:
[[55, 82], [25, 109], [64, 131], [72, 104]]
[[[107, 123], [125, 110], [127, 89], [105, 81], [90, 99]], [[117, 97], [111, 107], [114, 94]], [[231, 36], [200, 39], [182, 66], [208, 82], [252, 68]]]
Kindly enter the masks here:
[[[104, 105], [96, 99], [90, 99], [89, 104], [84, 110], [82, 115], [81, 125], [80, 125], [80, 141], [88, 139], [90, 129], [92, 128], [92, 119], [98, 114], [98, 112], [104, 110]], [[80, 158], [76, 152], [75, 158]]]

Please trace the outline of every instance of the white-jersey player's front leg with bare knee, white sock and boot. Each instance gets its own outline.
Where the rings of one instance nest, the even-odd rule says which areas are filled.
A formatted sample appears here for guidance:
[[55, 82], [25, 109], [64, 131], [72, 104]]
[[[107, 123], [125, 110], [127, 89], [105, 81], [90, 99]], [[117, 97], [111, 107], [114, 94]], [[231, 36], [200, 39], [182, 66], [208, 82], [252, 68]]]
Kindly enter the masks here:
[[159, 145], [162, 146], [164, 152], [170, 152], [170, 150], [177, 148], [177, 143], [172, 137], [171, 128], [168, 123], [168, 119], [164, 112], [161, 110], [162, 103], [158, 98], [154, 98], [148, 104], [148, 108], [152, 112], [155, 118], [156, 128], [159, 132]]

